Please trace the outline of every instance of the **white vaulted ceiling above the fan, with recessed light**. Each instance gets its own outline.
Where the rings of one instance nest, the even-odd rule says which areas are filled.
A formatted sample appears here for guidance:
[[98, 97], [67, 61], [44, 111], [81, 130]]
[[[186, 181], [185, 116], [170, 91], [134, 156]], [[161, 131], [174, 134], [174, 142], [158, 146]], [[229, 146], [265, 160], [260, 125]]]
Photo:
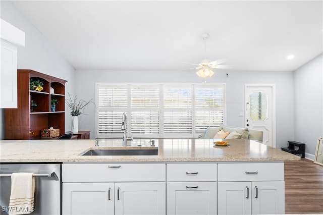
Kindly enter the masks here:
[[[323, 51], [323, 1], [13, 1], [77, 70], [179, 70], [206, 56], [294, 71]], [[288, 55], [293, 60], [287, 60]]]

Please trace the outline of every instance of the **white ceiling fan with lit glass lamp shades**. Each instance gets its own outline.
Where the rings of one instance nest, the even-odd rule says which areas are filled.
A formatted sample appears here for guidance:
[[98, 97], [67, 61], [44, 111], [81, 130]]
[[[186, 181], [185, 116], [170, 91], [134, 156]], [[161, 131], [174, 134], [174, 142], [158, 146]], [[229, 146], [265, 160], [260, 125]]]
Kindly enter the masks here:
[[202, 34], [202, 38], [204, 40], [204, 60], [202, 60], [199, 64], [187, 63], [187, 64], [197, 66], [197, 67], [189, 68], [189, 69], [198, 69], [196, 74], [202, 78], [211, 77], [212, 75], [214, 75], [214, 72], [210, 68], [231, 69], [234, 67], [234, 66], [229, 66], [229, 65], [220, 65], [220, 64], [225, 63], [227, 61], [227, 59], [219, 59], [219, 60], [212, 61], [212, 62], [210, 60], [206, 59], [206, 39], [208, 38], [208, 36], [209, 36], [208, 33]]

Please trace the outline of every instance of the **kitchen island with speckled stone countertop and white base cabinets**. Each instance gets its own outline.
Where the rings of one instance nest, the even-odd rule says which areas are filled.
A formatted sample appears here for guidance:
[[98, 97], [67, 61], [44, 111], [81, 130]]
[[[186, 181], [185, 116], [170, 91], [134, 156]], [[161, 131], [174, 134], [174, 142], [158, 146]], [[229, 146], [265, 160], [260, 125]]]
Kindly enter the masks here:
[[213, 141], [158, 139], [157, 155], [82, 156], [122, 140], [5, 140], [0, 162], [62, 163], [63, 214], [284, 213], [284, 161], [300, 157], [252, 140]]

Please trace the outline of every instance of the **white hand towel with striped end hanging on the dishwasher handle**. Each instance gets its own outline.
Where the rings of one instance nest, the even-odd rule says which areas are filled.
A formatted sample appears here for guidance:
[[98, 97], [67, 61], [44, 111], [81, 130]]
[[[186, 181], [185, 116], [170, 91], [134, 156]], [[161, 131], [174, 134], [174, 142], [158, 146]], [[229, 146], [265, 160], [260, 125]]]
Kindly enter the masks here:
[[33, 173], [13, 173], [9, 214], [29, 214], [34, 211], [35, 178]]

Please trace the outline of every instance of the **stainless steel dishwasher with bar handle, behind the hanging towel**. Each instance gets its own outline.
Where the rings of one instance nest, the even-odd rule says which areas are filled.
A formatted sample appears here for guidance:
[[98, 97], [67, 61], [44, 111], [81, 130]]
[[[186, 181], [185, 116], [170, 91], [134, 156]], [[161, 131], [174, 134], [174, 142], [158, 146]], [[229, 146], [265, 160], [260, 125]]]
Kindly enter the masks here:
[[59, 215], [61, 209], [61, 164], [0, 164], [0, 214], [8, 214], [11, 191], [11, 174], [16, 172], [34, 173], [35, 196], [34, 215]]

